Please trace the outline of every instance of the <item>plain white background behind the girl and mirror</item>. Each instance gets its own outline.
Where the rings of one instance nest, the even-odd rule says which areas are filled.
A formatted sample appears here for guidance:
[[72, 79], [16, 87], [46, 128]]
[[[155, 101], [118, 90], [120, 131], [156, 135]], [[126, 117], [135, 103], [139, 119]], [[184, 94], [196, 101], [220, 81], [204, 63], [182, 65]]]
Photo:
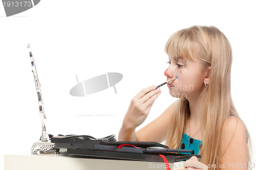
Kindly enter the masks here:
[[[255, 133], [255, 3], [253, 1], [47, 1], [6, 17], [0, 5], [1, 162], [29, 152], [41, 135], [27, 43], [31, 43], [50, 134], [118, 135], [130, 101], [166, 80], [164, 45], [175, 31], [216, 26], [233, 49], [231, 92], [252, 140]], [[105, 72], [123, 79], [86, 97], [70, 89]], [[143, 127], [176, 99], [166, 86]], [[105, 116], [97, 116], [103, 114]], [[93, 115], [93, 116], [88, 116]], [[238, 148], [239, 149], [239, 148]], [[3, 163], [0, 163], [3, 168]]]

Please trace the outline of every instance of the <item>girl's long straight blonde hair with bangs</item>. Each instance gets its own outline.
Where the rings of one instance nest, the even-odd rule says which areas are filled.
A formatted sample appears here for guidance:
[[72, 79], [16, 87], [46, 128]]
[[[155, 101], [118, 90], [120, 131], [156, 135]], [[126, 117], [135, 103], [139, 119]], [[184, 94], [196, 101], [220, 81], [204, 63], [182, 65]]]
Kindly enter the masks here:
[[[165, 52], [174, 57], [199, 60], [205, 67], [211, 67], [209, 83], [200, 96], [204, 99], [200, 122], [200, 154], [202, 163], [217, 165], [215, 169], [219, 169], [222, 155], [218, 151], [221, 147], [224, 122], [230, 115], [240, 118], [230, 93], [231, 45], [216, 27], [193, 26], [174, 33], [165, 45]], [[184, 127], [190, 116], [188, 104], [186, 99], [179, 100], [176, 114], [166, 134], [166, 144], [169, 148], [181, 147]], [[247, 137], [249, 141], [248, 131]]]

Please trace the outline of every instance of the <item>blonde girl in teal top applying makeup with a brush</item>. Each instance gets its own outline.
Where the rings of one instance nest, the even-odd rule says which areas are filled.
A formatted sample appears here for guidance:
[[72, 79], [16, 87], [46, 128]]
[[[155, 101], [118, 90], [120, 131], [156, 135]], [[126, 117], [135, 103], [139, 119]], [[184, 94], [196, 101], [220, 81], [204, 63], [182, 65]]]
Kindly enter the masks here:
[[165, 52], [167, 81], [178, 78], [167, 87], [180, 99], [136, 132], [161, 93], [156, 86], [141, 90], [124, 116], [118, 140], [166, 141], [169, 148], [190, 149], [202, 156], [186, 161], [198, 164], [194, 168], [247, 169], [249, 133], [231, 98], [232, 51], [225, 35], [212, 26], [182, 29], [168, 39]]

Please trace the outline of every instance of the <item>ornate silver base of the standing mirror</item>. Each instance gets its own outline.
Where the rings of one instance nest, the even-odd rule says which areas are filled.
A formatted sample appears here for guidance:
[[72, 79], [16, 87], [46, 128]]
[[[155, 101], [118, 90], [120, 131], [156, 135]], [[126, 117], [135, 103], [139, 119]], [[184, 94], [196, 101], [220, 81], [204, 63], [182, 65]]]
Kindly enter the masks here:
[[41, 151], [41, 152], [54, 151], [55, 154], [59, 153], [59, 149], [55, 148], [55, 143], [52, 143], [49, 141], [34, 142], [31, 148], [31, 154], [34, 155], [38, 151]]

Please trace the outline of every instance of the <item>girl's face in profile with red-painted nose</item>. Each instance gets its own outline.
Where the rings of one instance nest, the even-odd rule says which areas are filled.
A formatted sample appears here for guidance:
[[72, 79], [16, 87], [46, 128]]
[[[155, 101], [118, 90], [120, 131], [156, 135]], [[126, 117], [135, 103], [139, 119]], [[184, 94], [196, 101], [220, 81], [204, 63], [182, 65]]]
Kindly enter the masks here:
[[204, 79], [207, 72], [199, 61], [170, 56], [169, 66], [164, 75], [167, 77], [167, 81], [175, 77], [178, 78], [167, 84], [170, 95], [189, 100], [198, 98], [204, 90]]

